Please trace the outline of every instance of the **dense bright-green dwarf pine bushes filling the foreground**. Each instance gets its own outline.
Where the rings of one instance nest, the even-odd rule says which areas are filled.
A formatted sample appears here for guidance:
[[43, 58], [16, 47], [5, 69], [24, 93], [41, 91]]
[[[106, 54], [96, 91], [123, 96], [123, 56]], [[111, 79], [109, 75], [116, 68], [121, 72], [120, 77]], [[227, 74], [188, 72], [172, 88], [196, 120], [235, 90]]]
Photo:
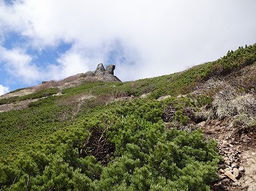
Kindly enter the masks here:
[[219, 159], [215, 142], [162, 120], [163, 108], [188, 104], [196, 106], [136, 99], [82, 114], [79, 123], [2, 159], [2, 190], [208, 190]]

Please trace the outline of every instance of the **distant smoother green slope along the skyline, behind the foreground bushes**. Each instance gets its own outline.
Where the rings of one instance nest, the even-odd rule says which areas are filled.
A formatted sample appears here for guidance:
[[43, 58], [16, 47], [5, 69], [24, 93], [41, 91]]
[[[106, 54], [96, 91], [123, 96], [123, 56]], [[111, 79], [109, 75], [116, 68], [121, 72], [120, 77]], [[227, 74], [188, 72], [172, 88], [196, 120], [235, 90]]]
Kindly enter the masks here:
[[[161, 95], [179, 95], [190, 92], [198, 82], [207, 80], [213, 75], [224, 75], [230, 71], [241, 68], [243, 65], [251, 65], [256, 60], [256, 44], [229, 51], [227, 56], [215, 62], [197, 65], [186, 71], [154, 77], [133, 82], [113, 83], [84, 83], [62, 90], [61, 96], [39, 99], [32, 103], [30, 108], [21, 111], [9, 111], [0, 113], [0, 154], [21, 150], [27, 144], [40, 138], [47, 137], [57, 129], [62, 129], [68, 124], [75, 123], [74, 110], [78, 102], [74, 102], [79, 95], [95, 95], [95, 99], [89, 99], [81, 106], [81, 111], [90, 112], [91, 108], [104, 105], [108, 100], [123, 96], [139, 97], [145, 93], [151, 93], [149, 97], [157, 99]], [[45, 89], [30, 95], [23, 95], [10, 99], [0, 99], [0, 104], [17, 102], [26, 99], [37, 99], [56, 93], [58, 89]], [[72, 101], [72, 102], [71, 102]]]

